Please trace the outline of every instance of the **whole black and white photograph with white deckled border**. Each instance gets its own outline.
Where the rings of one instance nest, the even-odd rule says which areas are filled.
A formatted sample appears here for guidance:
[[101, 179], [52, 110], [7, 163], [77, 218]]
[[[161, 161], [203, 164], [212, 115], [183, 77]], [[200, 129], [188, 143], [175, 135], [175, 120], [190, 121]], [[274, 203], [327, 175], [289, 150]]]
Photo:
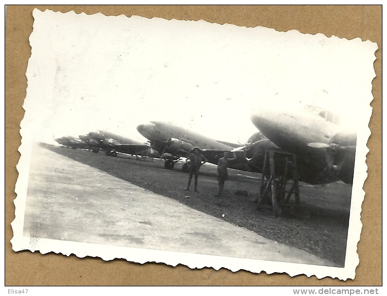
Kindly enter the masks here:
[[355, 277], [376, 43], [33, 16], [13, 250]]

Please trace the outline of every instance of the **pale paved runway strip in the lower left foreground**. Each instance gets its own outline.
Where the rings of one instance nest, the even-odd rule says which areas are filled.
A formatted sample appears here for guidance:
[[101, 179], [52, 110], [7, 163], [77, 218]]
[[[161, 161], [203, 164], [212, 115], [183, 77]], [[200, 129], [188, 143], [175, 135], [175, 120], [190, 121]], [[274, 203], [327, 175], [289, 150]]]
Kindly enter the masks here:
[[41, 146], [31, 159], [24, 235], [37, 223], [47, 239], [332, 266]]

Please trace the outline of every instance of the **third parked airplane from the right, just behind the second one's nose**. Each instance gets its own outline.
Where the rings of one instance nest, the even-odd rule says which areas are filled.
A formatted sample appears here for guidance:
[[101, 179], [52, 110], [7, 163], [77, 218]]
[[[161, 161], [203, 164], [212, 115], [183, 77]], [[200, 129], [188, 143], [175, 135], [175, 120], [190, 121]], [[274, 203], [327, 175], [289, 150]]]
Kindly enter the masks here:
[[81, 138], [85, 140], [89, 139], [88, 143], [92, 147], [93, 152], [96, 153], [100, 150], [104, 150], [106, 151], [106, 155], [109, 156], [117, 156], [118, 152], [120, 152], [125, 154], [159, 157], [158, 152], [154, 151], [149, 144], [134, 141], [105, 130], [91, 131], [87, 136]]

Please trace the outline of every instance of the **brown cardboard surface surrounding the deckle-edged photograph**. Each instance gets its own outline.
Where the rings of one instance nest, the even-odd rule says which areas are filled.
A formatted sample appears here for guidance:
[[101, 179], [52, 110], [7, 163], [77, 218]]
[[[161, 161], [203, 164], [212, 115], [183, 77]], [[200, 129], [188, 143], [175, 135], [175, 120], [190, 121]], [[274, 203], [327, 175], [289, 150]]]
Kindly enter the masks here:
[[[233, 273], [210, 268], [191, 270], [185, 266], [164, 264], [134, 264], [126, 260], [104, 261], [100, 258], [78, 258], [49, 253], [12, 250], [10, 223], [14, 219], [13, 200], [19, 160], [19, 124], [27, 80], [25, 77], [30, 46], [28, 37], [33, 30], [32, 11], [85, 12], [147, 18], [200, 20], [239, 26], [265, 26], [278, 31], [297, 29], [302, 33], [322, 33], [328, 37], [376, 42], [379, 49], [374, 63], [370, 121], [372, 135], [368, 142], [368, 179], [362, 208], [363, 229], [358, 244], [360, 264], [354, 280], [332, 278], [318, 280], [304, 275]], [[7, 6], [5, 27], [5, 285], [381, 285], [382, 284], [382, 207], [381, 207], [381, 5], [380, 6]], [[38, 115], [37, 115], [38, 116]]]

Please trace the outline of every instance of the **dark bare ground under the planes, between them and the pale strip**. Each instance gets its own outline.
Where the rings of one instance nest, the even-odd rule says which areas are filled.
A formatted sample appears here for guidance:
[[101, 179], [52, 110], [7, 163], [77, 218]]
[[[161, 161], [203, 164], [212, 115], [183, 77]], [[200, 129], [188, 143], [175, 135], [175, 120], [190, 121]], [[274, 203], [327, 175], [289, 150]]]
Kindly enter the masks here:
[[[260, 174], [229, 169], [223, 196], [218, 198], [214, 196], [217, 180], [216, 166], [213, 165], [204, 165], [200, 169], [199, 192], [188, 192], [183, 190], [188, 174], [181, 171], [182, 163], [177, 163], [174, 170], [167, 170], [164, 161], [159, 159], [147, 162], [126, 155], [111, 157], [103, 152], [97, 154], [44, 146], [193, 209], [215, 217], [224, 215], [222, 219], [225, 221], [328, 259], [337, 267], [344, 266], [351, 185], [341, 182], [313, 186], [300, 183], [301, 209], [284, 208], [282, 216], [276, 218], [269, 209], [259, 211], [256, 202], [251, 202], [260, 189]], [[237, 190], [246, 190], [248, 195], [238, 195]]]

